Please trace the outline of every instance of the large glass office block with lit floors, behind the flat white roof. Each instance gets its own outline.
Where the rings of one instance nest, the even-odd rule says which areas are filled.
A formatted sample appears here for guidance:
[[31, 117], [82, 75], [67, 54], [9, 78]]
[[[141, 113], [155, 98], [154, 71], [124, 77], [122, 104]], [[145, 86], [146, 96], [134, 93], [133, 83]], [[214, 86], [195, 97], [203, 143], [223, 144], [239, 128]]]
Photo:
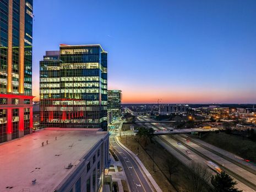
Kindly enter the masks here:
[[107, 129], [107, 52], [99, 44], [46, 52], [40, 61], [40, 126]]

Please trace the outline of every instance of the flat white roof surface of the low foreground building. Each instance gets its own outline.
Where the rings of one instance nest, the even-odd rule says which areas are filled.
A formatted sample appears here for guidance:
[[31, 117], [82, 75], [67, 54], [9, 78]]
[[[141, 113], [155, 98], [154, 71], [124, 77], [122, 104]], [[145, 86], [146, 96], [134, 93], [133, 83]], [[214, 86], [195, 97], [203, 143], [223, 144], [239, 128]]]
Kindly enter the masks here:
[[[44, 129], [0, 145], [0, 191], [54, 191], [106, 134], [97, 129]], [[69, 163], [74, 166], [67, 170]]]

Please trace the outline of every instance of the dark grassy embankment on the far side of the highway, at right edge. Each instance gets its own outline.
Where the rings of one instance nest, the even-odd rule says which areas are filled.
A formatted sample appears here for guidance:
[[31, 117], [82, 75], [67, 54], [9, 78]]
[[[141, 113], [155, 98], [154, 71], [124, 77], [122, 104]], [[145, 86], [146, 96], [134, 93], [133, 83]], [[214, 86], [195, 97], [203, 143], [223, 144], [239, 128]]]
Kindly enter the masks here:
[[256, 142], [245, 137], [220, 132], [208, 133], [201, 139], [244, 159], [256, 162]]

